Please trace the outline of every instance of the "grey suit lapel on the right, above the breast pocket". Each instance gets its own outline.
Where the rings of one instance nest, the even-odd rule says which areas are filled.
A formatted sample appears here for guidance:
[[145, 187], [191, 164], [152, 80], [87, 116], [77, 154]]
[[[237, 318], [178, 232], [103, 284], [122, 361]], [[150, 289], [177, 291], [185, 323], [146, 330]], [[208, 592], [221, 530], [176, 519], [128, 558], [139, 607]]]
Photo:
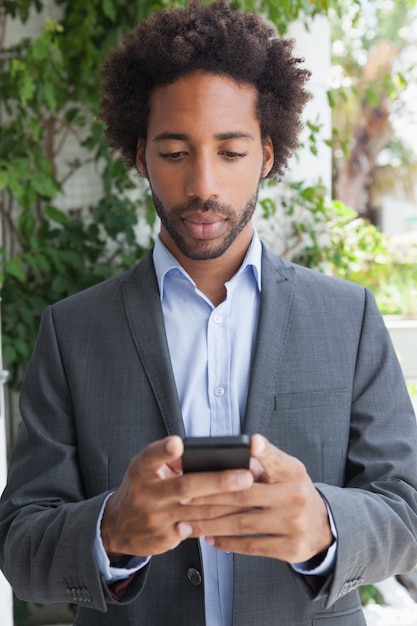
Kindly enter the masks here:
[[282, 368], [294, 297], [294, 269], [264, 248], [261, 306], [244, 432], [263, 432], [265, 416], [274, 401]]

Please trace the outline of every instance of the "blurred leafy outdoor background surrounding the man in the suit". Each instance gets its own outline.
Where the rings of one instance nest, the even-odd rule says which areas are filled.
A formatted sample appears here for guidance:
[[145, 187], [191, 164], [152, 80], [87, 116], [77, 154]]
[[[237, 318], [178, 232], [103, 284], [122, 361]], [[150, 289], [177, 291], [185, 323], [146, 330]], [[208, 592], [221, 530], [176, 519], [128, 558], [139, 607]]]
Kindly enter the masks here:
[[[2, 485], [42, 310], [131, 267], [158, 232], [146, 184], [103, 140], [97, 70], [132, 25], [183, 4], [0, 0]], [[277, 254], [372, 289], [416, 402], [417, 0], [231, 4], [294, 37], [312, 71], [300, 149], [284, 181], [263, 185], [256, 228]], [[417, 583], [391, 582], [400, 617], [368, 588], [368, 623], [417, 624]], [[12, 602], [1, 575], [0, 614], [3, 626], [73, 615]]]

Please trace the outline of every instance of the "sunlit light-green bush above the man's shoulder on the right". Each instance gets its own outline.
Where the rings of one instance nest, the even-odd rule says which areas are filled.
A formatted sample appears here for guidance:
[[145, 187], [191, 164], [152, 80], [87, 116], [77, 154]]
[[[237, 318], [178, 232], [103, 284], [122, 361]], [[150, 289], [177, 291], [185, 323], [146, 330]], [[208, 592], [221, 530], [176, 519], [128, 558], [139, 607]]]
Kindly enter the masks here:
[[260, 205], [257, 228], [277, 254], [368, 287], [384, 315], [417, 316], [417, 247], [399, 247], [321, 185], [269, 187]]

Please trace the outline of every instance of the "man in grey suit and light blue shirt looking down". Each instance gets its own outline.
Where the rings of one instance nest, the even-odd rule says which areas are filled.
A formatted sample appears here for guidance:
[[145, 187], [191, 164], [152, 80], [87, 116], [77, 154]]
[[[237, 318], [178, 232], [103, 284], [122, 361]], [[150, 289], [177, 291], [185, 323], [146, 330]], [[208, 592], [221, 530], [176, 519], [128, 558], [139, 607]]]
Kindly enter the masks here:
[[[251, 224], [299, 65], [221, 1], [155, 14], [103, 68], [160, 237], [45, 311], [1, 505], [16, 593], [77, 625], [364, 624], [357, 587], [417, 561], [415, 417], [374, 300]], [[250, 470], [182, 474], [186, 434], [240, 432]]]

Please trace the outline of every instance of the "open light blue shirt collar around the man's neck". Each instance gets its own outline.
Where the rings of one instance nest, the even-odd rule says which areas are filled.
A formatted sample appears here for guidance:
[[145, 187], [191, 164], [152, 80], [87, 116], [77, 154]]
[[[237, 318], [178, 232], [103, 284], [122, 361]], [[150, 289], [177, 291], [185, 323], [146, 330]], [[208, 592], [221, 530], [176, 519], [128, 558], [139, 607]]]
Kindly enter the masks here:
[[[243, 263], [235, 276], [244, 272], [247, 267], [251, 267], [259, 291], [261, 291], [261, 258], [262, 244], [259, 239], [258, 233], [256, 232], [256, 230], [254, 230], [251, 244], [248, 248], [245, 258], [243, 259]], [[165, 278], [167, 274], [169, 274], [171, 271], [176, 270], [181, 272], [181, 274], [183, 274], [183, 276], [185, 276], [185, 278], [195, 286], [195, 283], [191, 276], [184, 270], [182, 265], [178, 263], [175, 257], [172, 256], [168, 248], [162, 243], [159, 235], [155, 241], [155, 246], [153, 249], [153, 263], [155, 267], [155, 273], [158, 281], [161, 300], [164, 295]], [[233, 280], [233, 278], [231, 280]]]

